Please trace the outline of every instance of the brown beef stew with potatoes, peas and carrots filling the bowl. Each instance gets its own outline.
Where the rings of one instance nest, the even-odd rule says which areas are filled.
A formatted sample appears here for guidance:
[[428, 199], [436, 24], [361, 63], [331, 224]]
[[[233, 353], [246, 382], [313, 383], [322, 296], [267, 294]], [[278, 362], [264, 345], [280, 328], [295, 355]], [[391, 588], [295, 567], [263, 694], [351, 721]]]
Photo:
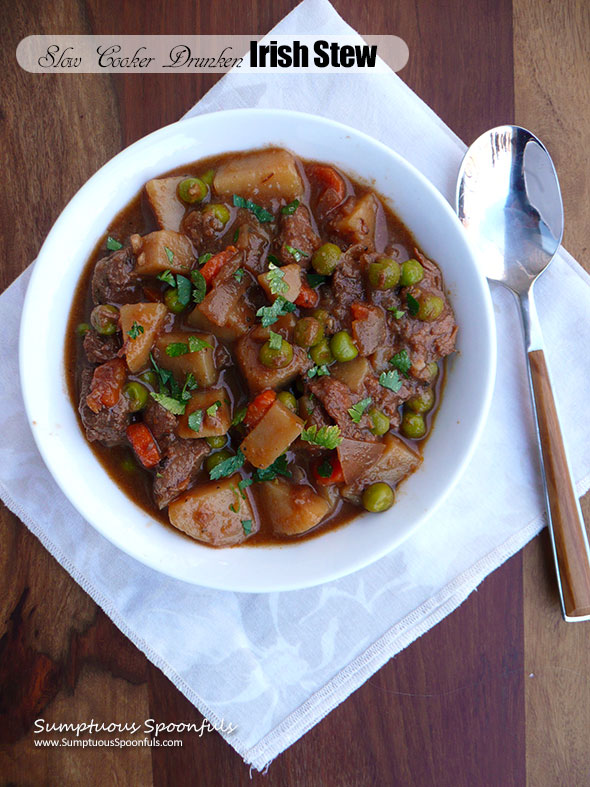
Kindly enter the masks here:
[[287, 150], [146, 183], [78, 287], [68, 383], [141, 506], [203, 543], [382, 512], [422, 462], [457, 326], [372, 189]]

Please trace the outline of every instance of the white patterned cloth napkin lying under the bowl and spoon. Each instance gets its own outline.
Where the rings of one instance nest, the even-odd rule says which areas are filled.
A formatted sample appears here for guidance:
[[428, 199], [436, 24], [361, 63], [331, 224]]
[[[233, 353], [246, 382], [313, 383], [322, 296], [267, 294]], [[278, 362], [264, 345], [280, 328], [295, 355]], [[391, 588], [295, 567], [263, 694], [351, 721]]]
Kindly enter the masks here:
[[[305, 0], [275, 33], [351, 33], [327, 0]], [[224, 77], [189, 114], [230, 107], [319, 113], [401, 153], [452, 200], [463, 143], [393, 73]], [[354, 107], [354, 113], [350, 107]], [[520, 326], [494, 291], [498, 375], [481, 444], [435, 517], [392, 554], [310, 590], [248, 595], [194, 587], [119, 552], [53, 482], [17, 394], [24, 273], [0, 297], [0, 495], [115, 624], [262, 769], [388, 659], [452, 612], [544, 524]], [[538, 308], [578, 493], [590, 485], [590, 278], [560, 251]]]

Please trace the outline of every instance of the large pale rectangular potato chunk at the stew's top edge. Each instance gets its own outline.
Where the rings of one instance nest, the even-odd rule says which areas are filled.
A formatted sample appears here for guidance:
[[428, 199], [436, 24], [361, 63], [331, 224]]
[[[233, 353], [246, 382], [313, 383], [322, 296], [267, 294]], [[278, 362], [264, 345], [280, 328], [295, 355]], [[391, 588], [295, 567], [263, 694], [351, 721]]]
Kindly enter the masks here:
[[259, 205], [273, 199], [291, 202], [303, 194], [295, 159], [286, 150], [259, 150], [232, 159], [219, 167], [213, 186], [221, 197], [239, 194]]

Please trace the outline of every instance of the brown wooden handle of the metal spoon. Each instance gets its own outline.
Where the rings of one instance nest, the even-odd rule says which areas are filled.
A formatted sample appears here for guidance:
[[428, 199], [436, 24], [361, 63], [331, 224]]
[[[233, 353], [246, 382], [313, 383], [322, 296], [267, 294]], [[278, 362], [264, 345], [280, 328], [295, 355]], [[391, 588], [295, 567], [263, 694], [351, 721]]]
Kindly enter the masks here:
[[590, 615], [590, 560], [543, 350], [528, 354], [543, 453], [557, 570], [568, 617]]

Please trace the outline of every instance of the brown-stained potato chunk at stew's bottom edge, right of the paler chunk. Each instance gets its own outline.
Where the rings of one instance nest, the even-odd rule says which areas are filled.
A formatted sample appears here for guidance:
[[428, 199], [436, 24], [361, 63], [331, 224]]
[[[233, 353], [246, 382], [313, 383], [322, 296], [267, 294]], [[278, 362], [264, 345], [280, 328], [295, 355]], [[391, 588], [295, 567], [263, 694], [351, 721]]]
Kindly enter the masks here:
[[328, 500], [309, 486], [291, 484], [284, 478], [258, 484], [257, 491], [262, 516], [278, 535], [306, 533], [331, 510]]

